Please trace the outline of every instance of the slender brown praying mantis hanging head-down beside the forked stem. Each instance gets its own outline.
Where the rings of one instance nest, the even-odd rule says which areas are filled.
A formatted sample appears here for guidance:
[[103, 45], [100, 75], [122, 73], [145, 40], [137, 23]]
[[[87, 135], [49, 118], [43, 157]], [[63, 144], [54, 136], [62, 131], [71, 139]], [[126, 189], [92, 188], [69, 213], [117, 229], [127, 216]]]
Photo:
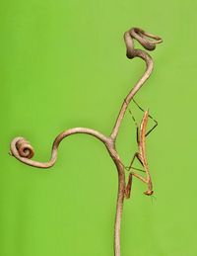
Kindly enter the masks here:
[[[134, 118], [134, 116], [133, 116], [133, 114], [132, 114], [132, 112], [131, 112], [131, 110], [128, 109], [129, 113], [132, 117], [132, 120], [134, 121], [134, 123], [136, 125], [136, 128], [137, 128], [136, 138], [137, 138], [137, 143], [138, 143], [138, 152], [136, 152], [134, 154], [130, 165], [128, 167], [125, 167], [125, 169], [127, 171], [130, 171], [130, 170], [133, 169], [133, 170], [145, 172], [146, 173], [146, 178], [144, 178], [143, 176], [141, 176], [140, 174], [138, 174], [134, 171], [130, 171], [129, 176], [128, 176], [128, 182], [127, 182], [127, 185], [126, 185], [126, 188], [125, 188], [125, 197], [127, 199], [130, 198], [133, 176], [140, 179], [145, 184], [147, 184], [148, 190], [144, 192], [145, 195], [152, 196], [154, 194], [151, 174], [150, 174], [150, 171], [149, 171], [149, 166], [148, 166], [148, 161], [147, 161], [147, 156], [146, 156], [146, 136], [148, 136], [151, 133], [151, 131], [153, 131], [154, 128], [156, 128], [158, 126], [158, 122], [149, 114], [149, 110], [144, 111], [134, 99], [133, 99], [133, 102], [137, 105], [137, 107], [141, 111], [144, 112], [144, 115], [143, 115], [143, 118], [142, 118], [142, 121], [141, 121], [141, 124], [140, 124], [140, 127], [139, 127], [135, 118]], [[149, 118], [152, 119], [155, 122], [155, 125], [149, 131], [146, 131]], [[133, 167], [133, 162], [134, 162], [135, 158], [137, 158], [139, 160], [139, 162], [143, 166], [144, 170]]]

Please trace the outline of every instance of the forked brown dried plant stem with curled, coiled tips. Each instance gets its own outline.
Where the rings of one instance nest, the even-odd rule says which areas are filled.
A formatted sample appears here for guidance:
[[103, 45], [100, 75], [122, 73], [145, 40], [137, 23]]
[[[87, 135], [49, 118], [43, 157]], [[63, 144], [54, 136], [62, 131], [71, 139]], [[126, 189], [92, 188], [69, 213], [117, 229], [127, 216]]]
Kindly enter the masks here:
[[[54, 165], [57, 159], [57, 151], [59, 143], [63, 138], [73, 135], [76, 133], [85, 133], [98, 138], [106, 147], [111, 159], [113, 160], [117, 173], [118, 173], [118, 193], [116, 203], [116, 215], [115, 215], [115, 226], [114, 226], [114, 256], [120, 256], [120, 224], [121, 215], [123, 209], [123, 202], [125, 197], [125, 169], [122, 161], [115, 148], [115, 140], [127, 110], [130, 101], [134, 95], [143, 86], [145, 81], [149, 78], [153, 70], [153, 60], [151, 56], [142, 49], [135, 49], [133, 39], [141, 43], [146, 49], [153, 50], [156, 47], [156, 43], [162, 43], [162, 39], [148, 34], [141, 29], [133, 28], [124, 34], [124, 41], [127, 49], [127, 57], [134, 58], [140, 57], [146, 62], [146, 71], [141, 79], [136, 83], [133, 89], [129, 92], [126, 98], [123, 100], [121, 109], [117, 116], [116, 122], [109, 136], [105, 136], [99, 131], [92, 128], [70, 128], [61, 132], [54, 140], [51, 151], [51, 158], [48, 162], [38, 162], [31, 158], [33, 157], [33, 147], [24, 137], [16, 137], [11, 142], [11, 154], [15, 156], [21, 162], [31, 165], [37, 168], [49, 168]], [[153, 39], [150, 40], [150, 39]]]

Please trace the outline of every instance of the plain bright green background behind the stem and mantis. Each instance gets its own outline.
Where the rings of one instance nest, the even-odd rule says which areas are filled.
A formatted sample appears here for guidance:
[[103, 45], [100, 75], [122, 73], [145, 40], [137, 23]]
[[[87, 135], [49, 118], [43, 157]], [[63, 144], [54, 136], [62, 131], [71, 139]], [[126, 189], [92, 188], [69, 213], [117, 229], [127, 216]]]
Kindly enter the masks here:
[[[157, 199], [134, 181], [121, 255], [197, 255], [196, 8], [191, 0], [0, 2], [0, 255], [113, 255], [117, 173], [99, 141], [66, 138], [49, 170], [8, 152], [22, 135], [34, 159], [46, 161], [64, 129], [109, 134], [145, 69], [141, 59], [125, 57], [123, 33], [135, 26], [164, 39], [151, 52], [154, 74], [136, 97], [159, 122], [147, 141]], [[117, 148], [128, 164], [136, 150], [129, 115]]]

